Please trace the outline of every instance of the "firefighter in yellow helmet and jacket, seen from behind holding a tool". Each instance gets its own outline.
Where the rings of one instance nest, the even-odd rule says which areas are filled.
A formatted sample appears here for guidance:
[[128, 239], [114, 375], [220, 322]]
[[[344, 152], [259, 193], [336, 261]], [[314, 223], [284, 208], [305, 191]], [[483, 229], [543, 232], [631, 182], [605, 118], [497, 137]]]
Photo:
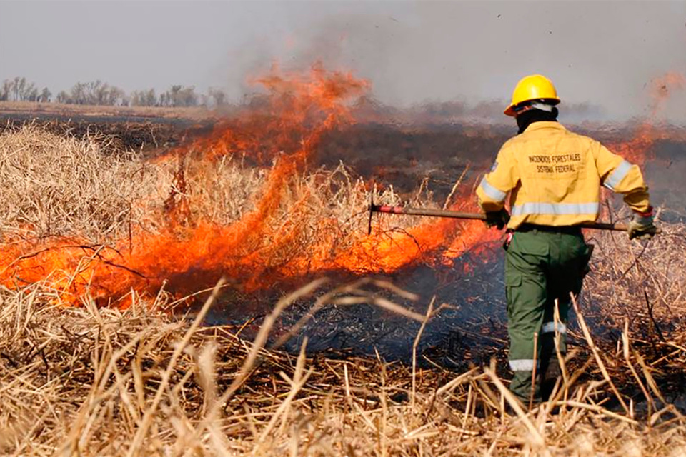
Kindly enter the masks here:
[[[570, 293], [580, 293], [591, 252], [579, 224], [597, 219], [600, 186], [623, 194], [632, 209], [629, 238], [657, 231], [638, 166], [565, 129], [557, 121], [559, 103], [545, 76], [519, 81], [504, 111], [517, 120], [518, 134], [503, 144], [477, 189], [487, 224], [507, 226], [510, 390], [525, 405], [546, 401], [559, 376], [555, 334], [564, 355]], [[504, 208], [508, 193], [511, 214]]]

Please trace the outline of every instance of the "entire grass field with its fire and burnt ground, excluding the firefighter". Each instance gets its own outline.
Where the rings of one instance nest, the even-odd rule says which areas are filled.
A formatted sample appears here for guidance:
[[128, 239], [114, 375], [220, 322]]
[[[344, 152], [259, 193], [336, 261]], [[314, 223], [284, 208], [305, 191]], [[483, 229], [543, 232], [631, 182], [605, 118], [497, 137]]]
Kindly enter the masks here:
[[264, 84], [208, 124], [6, 123], [1, 453], [686, 454], [682, 130], [586, 127], [647, 170], [664, 233], [587, 233], [563, 379], [525, 411], [501, 234], [411, 216], [367, 234], [365, 211], [474, 209], [510, 132], [355, 124], [364, 84], [341, 74]]

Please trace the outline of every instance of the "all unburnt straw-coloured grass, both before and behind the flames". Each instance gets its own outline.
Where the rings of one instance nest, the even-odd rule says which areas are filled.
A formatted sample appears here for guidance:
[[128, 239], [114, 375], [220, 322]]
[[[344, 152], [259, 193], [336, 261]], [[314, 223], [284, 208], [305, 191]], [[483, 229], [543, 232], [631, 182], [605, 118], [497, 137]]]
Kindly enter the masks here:
[[[187, 188], [177, 188], [174, 198], [186, 196], [191, 219], [227, 224], [249, 211], [249, 197], [265, 179], [237, 158], [149, 162], [104, 153], [102, 141], [35, 130], [0, 136], [2, 191], [9, 196], [0, 199], [3, 233], [104, 243], [125, 235], [129, 224], [155, 231], [179, 169]], [[319, 233], [314, 221], [322, 212], [350, 233], [366, 229], [359, 209], [368, 193], [343, 166], [296, 181], [274, 221], [283, 223], [294, 207], [306, 209], [298, 213], [305, 235], [297, 246]], [[379, 199], [399, 197], [388, 189]], [[554, 402], [532, 411], [512, 403], [499, 376], [504, 360], [456, 373], [429, 365], [421, 352], [418, 363], [404, 366], [380, 356], [308, 355], [307, 340], [297, 354], [279, 349], [299, 334], [297, 327], [287, 336], [288, 328], [277, 328], [294, 303], [309, 303], [306, 319], [324, 306], [382, 306], [422, 323], [416, 349], [422, 331], [440, 325], [442, 310], [427, 303], [419, 314], [398, 306], [417, 297], [380, 281], [315, 281], [274, 303], [259, 326], [217, 327], [202, 321], [222, 283], [193, 322], [160, 311], [171, 299], [163, 293], [146, 301], [134, 295], [119, 311], [96, 308], [88, 296], [82, 308], [54, 306], [44, 283], [2, 288], [0, 453], [685, 455], [686, 229], [664, 229], [645, 249], [617, 234], [593, 233], [598, 247], [585, 300], [576, 306], [580, 325], [570, 331], [564, 381]]]

